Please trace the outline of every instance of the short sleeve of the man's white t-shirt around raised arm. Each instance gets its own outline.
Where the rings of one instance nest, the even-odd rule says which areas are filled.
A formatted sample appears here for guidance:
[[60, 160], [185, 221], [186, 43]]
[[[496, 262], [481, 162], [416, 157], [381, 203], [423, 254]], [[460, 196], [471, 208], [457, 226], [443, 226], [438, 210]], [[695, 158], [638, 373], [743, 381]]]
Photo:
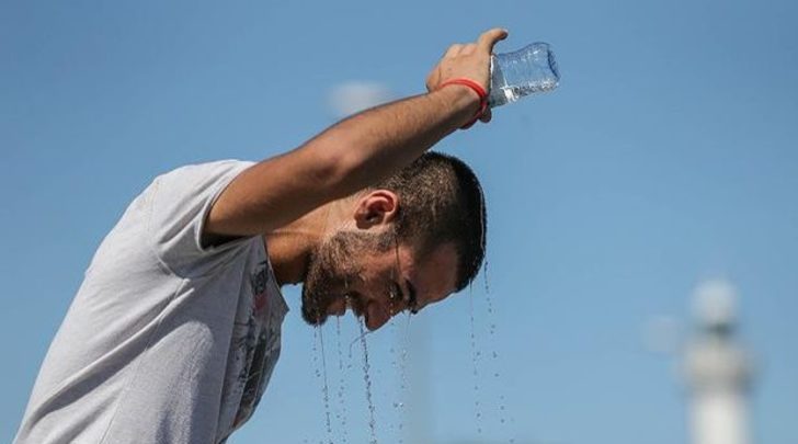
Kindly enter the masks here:
[[158, 177], [151, 187], [148, 238], [158, 259], [182, 276], [202, 275], [231, 259], [252, 238], [203, 247], [210, 207], [253, 162], [225, 160], [179, 168]]

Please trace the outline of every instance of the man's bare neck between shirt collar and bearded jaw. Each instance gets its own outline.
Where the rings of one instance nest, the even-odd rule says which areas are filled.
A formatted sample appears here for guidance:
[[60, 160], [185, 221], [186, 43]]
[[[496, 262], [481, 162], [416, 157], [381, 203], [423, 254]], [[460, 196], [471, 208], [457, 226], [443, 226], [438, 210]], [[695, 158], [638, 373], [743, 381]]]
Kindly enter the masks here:
[[341, 217], [340, 205], [329, 203], [263, 237], [281, 286], [305, 281], [311, 253], [335, 229]]

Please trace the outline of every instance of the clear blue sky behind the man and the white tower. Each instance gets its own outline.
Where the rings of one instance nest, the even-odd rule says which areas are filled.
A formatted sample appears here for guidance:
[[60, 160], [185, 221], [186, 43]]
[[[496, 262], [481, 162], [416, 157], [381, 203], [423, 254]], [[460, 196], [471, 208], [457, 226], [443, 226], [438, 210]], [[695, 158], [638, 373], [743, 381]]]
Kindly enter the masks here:
[[[14, 434], [94, 249], [155, 175], [294, 148], [334, 122], [335, 86], [421, 93], [449, 44], [504, 26], [499, 50], [549, 42], [562, 82], [437, 146], [483, 182], [490, 295], [480, 276], [470, 294], [368, 337], [380, 442], [424, 422], [442, 443], [685, 443], [679, 360], [643, 337], [660, 317], [686, 329], [693, 288], [716, 276], [737, 286], [756, 356], [756, 442], [798, 442], [798, 3], [73, 1], [0, 11], [0, 441]], [[314, 330], [299, 319], [297, 288], [285, 293], [283, 358], [231, 442], [328, 436]], [[341, 328], [352, 369], [339, 377], [327, 326], [327, 410], [334, 441], [365, 442], [360, 349], [346, 351], [357, 327], [346, 318]], [[404, 379], [415, 388], [401, 390]], [[425, 400], [392, 406], [409, 391]], [[345, 435], [335, 422], [344, 408]]]

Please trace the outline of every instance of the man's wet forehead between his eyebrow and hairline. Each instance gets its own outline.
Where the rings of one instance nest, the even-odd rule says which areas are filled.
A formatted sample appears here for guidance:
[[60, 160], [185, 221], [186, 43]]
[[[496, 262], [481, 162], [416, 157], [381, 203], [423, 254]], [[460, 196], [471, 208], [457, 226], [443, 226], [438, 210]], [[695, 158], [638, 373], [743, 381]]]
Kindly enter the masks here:
[[420, 306], [436, 303], [454, 293], [457, 252], [453, 244], [438, 246], [426, 254], [400, 246], [399, 259], [402, 277], [415, 287]]

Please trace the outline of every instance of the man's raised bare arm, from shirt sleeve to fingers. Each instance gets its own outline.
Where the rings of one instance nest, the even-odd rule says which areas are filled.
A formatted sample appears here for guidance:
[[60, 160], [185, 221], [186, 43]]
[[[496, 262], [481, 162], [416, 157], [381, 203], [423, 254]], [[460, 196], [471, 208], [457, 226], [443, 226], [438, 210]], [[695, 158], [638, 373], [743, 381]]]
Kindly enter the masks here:
[[490, 54], [505, 36], [495, 29], [476, 43], [453, 45], [428, 77], [429, 93], [354, 115], [299, 148], [249, 168], [216, 201], [204, 235], [270, 232], [412, 162], [479, 110], [479, 96], [470, 88], [438, 87], [468, 78], [487, 91]]

